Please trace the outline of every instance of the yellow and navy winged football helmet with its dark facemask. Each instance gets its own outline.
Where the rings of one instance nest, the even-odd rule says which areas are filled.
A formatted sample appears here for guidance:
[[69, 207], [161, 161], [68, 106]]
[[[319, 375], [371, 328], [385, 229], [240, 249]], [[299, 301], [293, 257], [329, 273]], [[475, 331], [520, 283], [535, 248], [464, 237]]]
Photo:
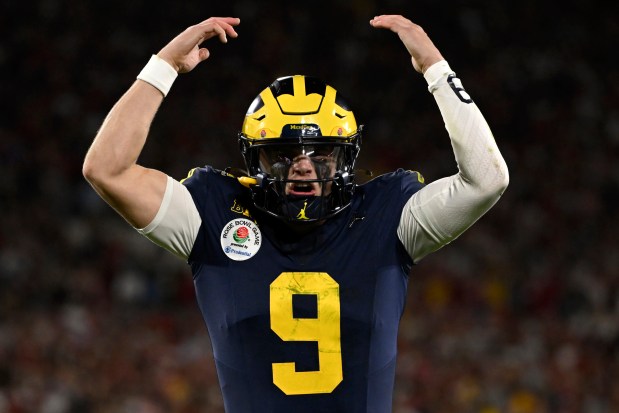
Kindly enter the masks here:
[[288, 222], [321, 221], [350, 205], [361, 126], [338, 92], [295, 75], [254, 99], [239, 133], [259, 209]]

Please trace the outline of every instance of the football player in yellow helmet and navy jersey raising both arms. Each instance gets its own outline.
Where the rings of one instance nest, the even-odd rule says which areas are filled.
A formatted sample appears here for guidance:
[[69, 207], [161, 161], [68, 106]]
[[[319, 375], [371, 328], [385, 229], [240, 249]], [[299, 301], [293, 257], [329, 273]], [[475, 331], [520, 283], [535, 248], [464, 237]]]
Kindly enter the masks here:
[[506, 164], [441, 53], [397, 15], [370, 25], [395, 32], [427, 80], [455, 175], [425, 185], [397, 169], [356, 184], [362, 128], [335, 88], [303, 75], [275, 80], [249, 106], [244, 174], [206, 166], [179, 182], [137, 164], [177, 75], [238, 24], [210, 18], [153, 56], [105, 119], [84, 175], [189, 263], [228, 413], [389, 412], [409, 271], [497, 202]]

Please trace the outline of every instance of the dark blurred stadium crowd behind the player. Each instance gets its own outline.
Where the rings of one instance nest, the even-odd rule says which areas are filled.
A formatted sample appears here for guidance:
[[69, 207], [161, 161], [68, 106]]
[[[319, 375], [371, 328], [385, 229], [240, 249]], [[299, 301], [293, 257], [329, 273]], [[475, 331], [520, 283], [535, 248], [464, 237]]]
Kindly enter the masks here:
[[616, 4], [202, 3], [3, 2], [0, 413], [223, 412], [188, 266], [96, 196], [83, 156], [151, 53], [227, 14], [239, 38], [177, 80], [143, 164], [178, 179], [242, 167], [247, 106], [304, 73], [366, 124], [359, 167], [453, 174], [423, 78], [368, 25], [391, 12], [430, 34], [511, 175], [487, 216], [411, 272], [394, 412], [619, 412]]

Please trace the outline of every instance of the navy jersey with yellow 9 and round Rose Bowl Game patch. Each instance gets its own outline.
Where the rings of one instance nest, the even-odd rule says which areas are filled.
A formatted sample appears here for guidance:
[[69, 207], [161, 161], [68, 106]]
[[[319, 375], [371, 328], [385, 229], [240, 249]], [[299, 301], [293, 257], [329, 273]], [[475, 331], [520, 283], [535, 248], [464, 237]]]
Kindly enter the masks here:
[[202, 217], [189, 264], [226, 412], [391, 411], [412, 266], [397, 227], [418, 175], [358, 186], [306, 234], [256, 210], [225, 173], [183, 183]]

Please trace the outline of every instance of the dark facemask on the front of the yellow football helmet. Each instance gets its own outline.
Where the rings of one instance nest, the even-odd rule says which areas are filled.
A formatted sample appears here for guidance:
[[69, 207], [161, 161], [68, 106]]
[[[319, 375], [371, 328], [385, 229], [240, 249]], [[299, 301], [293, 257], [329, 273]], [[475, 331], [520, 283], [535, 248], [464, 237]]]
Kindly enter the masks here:
[[251, 145], [241, 136], [250, 175], [259, 181], [252, 187], [258, 208], [286, 221], [315, 222], [348, 206], [357, 139], [321, 138], [320, 142], [277, 139]]

